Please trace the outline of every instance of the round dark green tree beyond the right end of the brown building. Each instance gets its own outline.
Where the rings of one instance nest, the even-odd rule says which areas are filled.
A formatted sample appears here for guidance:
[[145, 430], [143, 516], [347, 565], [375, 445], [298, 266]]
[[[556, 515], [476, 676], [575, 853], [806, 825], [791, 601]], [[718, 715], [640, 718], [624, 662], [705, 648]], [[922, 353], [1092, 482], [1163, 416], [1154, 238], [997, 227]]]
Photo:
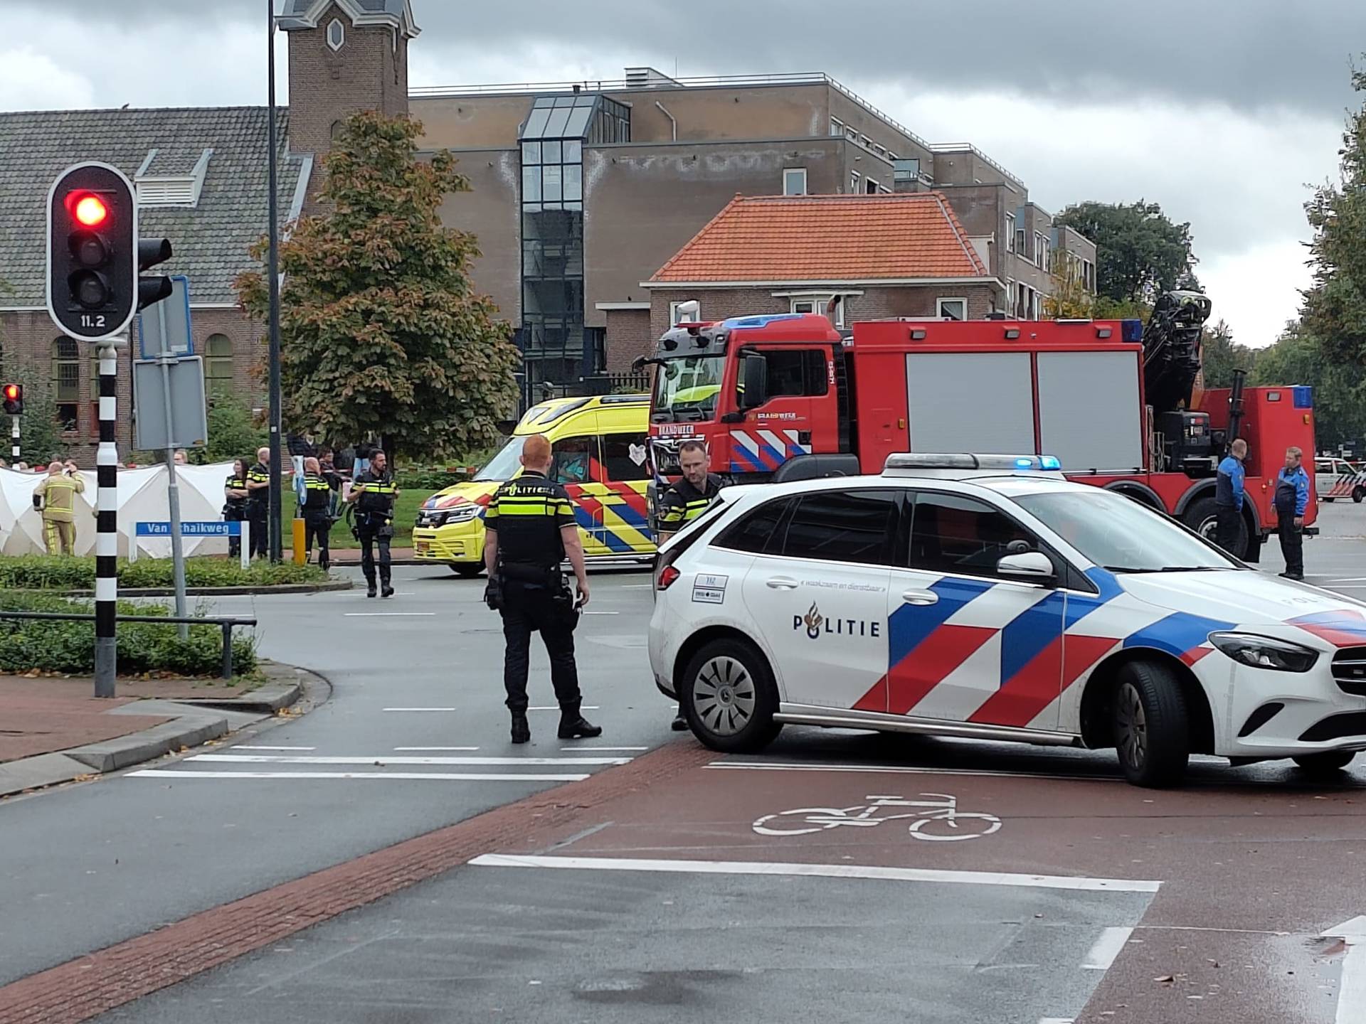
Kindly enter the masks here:
[[1198, 289], [1190, 224], [1175, 224], [1156, 202], [1082, 202], [1057, 223], [1096, 243], [1096, 291], [1116, 302], [1152, 303], [1164, 291]]

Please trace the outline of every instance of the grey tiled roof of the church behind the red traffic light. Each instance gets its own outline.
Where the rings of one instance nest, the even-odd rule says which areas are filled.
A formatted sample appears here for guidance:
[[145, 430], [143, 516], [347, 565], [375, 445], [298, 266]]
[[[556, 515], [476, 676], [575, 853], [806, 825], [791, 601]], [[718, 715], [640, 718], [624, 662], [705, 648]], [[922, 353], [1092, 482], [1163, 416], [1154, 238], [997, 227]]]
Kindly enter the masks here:
[[[284, 225], [309, 158], [287, 152], [288, 111], [277, 123]], [[247, 247], [266, 231], [266, 128], [264, 106], [0, 113], [0, 309], [46, 303], [44, 208], [53, 179], [101, 160], [133, 180], [152, 150], [148, 175], [189, 175], [213, 150], [198, 205], [143, 209], [139, 231], [171, 239], [176, 254], [158, 272], [189, 276], [191, 302], [236, 302], [232, 281], [253, 266]]]

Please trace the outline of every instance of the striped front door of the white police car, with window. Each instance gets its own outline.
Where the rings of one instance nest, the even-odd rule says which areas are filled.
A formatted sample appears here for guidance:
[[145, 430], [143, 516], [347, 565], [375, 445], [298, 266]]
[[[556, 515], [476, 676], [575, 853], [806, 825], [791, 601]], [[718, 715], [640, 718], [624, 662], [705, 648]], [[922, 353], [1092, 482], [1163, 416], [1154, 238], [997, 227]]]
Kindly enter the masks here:
[[887, 710], [1056, 729], [1063, 594], [996, 572], [1001, 557], [1038, 542], [985, 500], [912, 497], [904, 568], [889, 580]]

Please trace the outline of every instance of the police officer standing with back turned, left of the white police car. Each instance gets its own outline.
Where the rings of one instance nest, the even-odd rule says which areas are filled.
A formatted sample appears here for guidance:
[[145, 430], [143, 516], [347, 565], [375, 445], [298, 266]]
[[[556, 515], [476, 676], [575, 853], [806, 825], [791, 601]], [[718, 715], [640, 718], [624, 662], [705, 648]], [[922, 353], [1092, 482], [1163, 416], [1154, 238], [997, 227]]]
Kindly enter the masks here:
[[[574, 522], [574, 502], [545, 474], [553, 459], [550, 442], [533, 434], [522, 448], [525, 472], [494, 492], [484, 516], [484, 564], [489, 569], [489, 608], [503, 613], [507, 651], [503, 684], [512, 713], [512, 743], [531, 739], [526, 720], [526, 676], [530, 668], [531, 634], [541, 632], [550, 657], [550, 681], [560, 702], [561, 740], [601, 736], [579, 710], [579, 673], [574, 664], [574, 627], [579, 608], [589, 601], [583, 546]], [[578, 601], [560, 572], [568, 557], [578, 580]]]

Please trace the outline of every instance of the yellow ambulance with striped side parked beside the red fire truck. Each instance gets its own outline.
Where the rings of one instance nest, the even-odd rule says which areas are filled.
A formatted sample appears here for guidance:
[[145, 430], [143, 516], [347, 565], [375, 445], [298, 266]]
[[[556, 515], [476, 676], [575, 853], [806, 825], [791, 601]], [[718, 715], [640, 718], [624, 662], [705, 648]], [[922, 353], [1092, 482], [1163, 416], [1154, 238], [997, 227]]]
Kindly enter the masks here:
[[522, 445], [545, 434], [555, 464], [550, 479], [574, 498], [583, 553], [589, 558], [654, 554], [649, 528], [645, 461], [649, 395], [555, 399], [522, 416], [503, 449], [474, 479], [428, 498], [413, 528], [413, 554], [445, 563], [462, 576], [484, 569], [484, 509], [504, 481], [522, 472]]

